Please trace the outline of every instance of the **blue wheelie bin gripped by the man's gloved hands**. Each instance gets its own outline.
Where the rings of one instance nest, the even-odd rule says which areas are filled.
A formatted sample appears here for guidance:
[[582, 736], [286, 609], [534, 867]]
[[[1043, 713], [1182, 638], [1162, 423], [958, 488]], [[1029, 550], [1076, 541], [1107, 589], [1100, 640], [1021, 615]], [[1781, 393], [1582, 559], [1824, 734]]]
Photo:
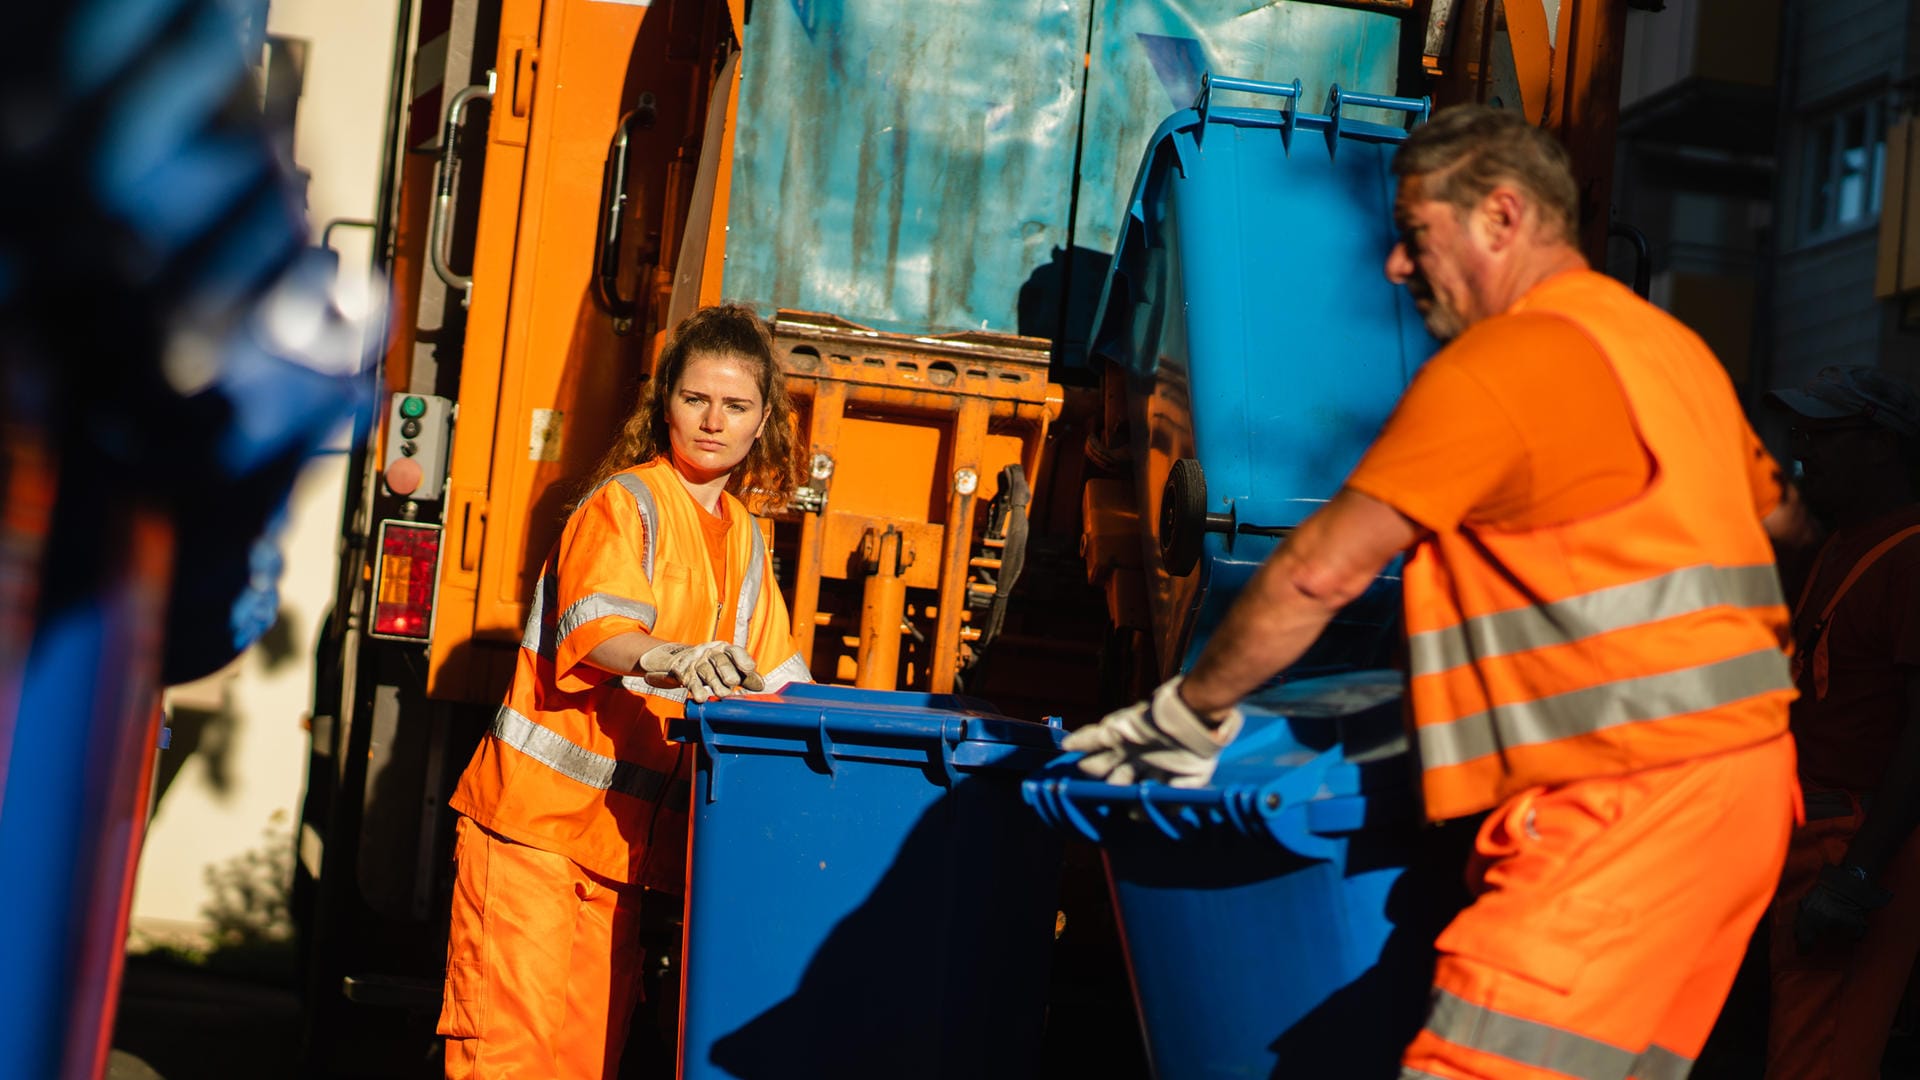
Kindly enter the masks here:
[[1158, 1080], [1390, 1080], [1465, 901], [1457, 830], [1421, 824], [1398, 673], [1250, 701], [1213, 786], [1027, 780], [1096, 842]]

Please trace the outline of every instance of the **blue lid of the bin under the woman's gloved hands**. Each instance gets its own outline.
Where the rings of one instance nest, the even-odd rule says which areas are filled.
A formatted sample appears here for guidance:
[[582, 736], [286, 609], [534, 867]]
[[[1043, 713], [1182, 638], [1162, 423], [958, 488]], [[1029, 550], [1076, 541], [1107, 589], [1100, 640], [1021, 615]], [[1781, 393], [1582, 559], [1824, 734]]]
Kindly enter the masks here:
[[933, 767], [948, 782], [962, 773], [1031, 773], [1060, 753], [1058, 719], [1020, 721], [958, 694], [856, 690], [795, 682], [780, 694], [687, 703], [668, 738], [728, 753], [793, 753], [833, 773], [841, 761]]

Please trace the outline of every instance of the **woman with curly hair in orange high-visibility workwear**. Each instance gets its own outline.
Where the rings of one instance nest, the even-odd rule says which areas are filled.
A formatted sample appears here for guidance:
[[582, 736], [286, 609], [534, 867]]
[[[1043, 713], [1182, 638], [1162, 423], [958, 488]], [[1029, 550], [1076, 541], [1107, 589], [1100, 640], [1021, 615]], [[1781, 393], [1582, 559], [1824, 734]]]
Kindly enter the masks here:
[[618, 1072], [639, 897], [684, 890], [689, 761], [666, 721], [810, 680], [741, 502], [793, 490], [789, 425], [766, 323], [695, 311], [568, 517], [453, 794], [449, 1078]]

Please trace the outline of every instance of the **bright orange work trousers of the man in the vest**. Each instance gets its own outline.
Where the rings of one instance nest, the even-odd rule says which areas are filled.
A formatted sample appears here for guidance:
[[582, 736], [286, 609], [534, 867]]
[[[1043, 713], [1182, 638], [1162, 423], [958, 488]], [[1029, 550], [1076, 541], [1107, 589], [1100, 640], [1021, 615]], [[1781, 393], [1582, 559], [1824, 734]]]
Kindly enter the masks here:
[[1780, 736], [1501, 803], [1402, 1078], [1684, 1078], [1780, 880], [1797, 792]]

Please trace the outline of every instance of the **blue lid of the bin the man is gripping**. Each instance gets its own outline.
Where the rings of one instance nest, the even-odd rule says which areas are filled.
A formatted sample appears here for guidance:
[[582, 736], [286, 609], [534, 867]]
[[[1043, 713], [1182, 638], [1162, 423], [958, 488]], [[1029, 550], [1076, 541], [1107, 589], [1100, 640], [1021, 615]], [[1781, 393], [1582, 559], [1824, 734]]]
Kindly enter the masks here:
[[1248, 698], [1240, 705], [1246, 728], [1206, 788], [1091, 780], [1075, 753], [1031, 776], [1021, 794], [1048, 824], [1092, 842], [1144, 819], [1171, 842], [1231, 828], [1332, 859], [1354, 832], [1419, 821], [1404, 682], [1398, 671], [1357, 671]]

